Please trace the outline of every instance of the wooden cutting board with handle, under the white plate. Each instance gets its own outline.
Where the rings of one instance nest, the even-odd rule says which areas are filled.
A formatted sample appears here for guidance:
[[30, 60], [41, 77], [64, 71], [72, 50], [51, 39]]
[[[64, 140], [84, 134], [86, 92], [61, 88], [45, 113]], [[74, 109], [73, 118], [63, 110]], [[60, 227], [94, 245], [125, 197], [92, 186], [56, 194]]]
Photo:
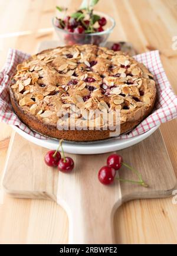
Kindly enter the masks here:
[[[64, 174], [44, 164], [45, 153], [45, 148], [13, 132], [2, 184], [14, 197], [55, 200], [63, 206], [69, 219], [70, 243], [112, 244], [113, 215], [122, 203], [171, 196], [175, 188], [175, 173], [159, 129], [139, 144], [117, 152], [140, 171], [148, 188], [118, 180], [111, 186], [99, 183], [97, 173], [109, 154], [72, 155], [74, 171]], [[117, 175], [136, 179], [124, 167]]]

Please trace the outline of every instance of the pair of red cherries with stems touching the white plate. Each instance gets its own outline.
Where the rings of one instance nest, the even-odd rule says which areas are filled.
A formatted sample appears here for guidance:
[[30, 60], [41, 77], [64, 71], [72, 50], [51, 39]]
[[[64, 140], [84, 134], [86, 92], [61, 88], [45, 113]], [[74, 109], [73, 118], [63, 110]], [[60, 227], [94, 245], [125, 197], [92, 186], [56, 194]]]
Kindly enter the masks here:
[[[60, 152], [58, 151], [61, 147], [61, 151], [63, 154], [63, 157], [61, 157]], [[63, 171], [63, 173], [70, 173], [70, 171], [74, 168], [74, 161], [71, 157], [65, 157], [63, 147], [62, 147], [62, 141], [60, 141], [60, 145], [57, 148], [57, 150], [51, 150], [48, 151], [47, 154], [45, 154], [44, 157], [45, 164], [50, 167], [57, 167], [58, 170]]]

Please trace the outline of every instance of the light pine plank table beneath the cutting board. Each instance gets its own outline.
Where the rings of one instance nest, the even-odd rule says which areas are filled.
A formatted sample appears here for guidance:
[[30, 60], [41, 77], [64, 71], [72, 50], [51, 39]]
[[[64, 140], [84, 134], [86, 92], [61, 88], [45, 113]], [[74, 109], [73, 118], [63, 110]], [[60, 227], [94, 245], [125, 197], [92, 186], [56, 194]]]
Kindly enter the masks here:
[[[0, 1], [0, 67], [9, 47], [35, 53], [40, 41], [56, 39], [51, 18], [55, 5], [63, 2], [76, 8], [81, 1]], [[176, 0], [100, 0], [96, 9], [116, 20], [110, 40], [130, 41], [139, 53], [160, 50], [166, 74], [177, 93], [177, 50], [172, 50], [172, 38], [177, 36]], [[176, 122], [171, 121], [160, 128], [175, 171]], [[10, 127], [0, 124], [0, 175], [11, 132]], [[117, 210], [114, 220], [117, 243], [176, 244], [176, 214], [177, 204], [172, 204], [172, 198], [126, 203]], [[12, 199], [0, 193], [0, 244], [61, 244], [67, 242], [67, 232], [67, 216], [54, 202]]]

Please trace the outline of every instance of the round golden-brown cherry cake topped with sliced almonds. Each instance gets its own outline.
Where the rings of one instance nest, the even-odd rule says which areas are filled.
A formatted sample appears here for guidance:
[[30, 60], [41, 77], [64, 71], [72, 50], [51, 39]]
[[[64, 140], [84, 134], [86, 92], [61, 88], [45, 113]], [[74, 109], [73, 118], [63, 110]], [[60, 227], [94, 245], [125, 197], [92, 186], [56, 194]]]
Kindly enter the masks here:
[[[59, 131], [58, 111], [69, 112], [73, 106], [82, 113], [118, 109], [122, 134], [150, 114], [156, 86], [153, 75], [133, 57], [86, 44], [45, 50], [18, 64], [10, 96], [19, 119], [35, 131], [69, 141], [95, 141], [109, 138], [112, 131], [96, 130], [94, 116], [92, 130]], [[88, 118], [81, 118], [87, 123]]]

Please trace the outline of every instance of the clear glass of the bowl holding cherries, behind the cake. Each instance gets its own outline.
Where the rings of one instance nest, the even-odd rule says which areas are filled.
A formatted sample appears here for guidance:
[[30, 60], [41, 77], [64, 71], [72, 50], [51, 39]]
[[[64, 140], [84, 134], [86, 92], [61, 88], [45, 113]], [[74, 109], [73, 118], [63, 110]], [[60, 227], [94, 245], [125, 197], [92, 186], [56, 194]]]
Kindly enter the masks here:
[[90, 33], [90, 34], [78, 34], [71, 33], [67, 30], [58, 28], [55, 26], [55, 18], [53, 18], [53, 27], [57, 33], [60, 41], [64, 45], [73, 45], [73, 44], [96, 44], [97, 46], [104, 46], [106, 44], [107, 38], [110, 33], [112, 33], [113, 28], [115, 27], [116, 22], [112, 17], [102, 12], [94, 12], [94, 14], [100, 15], [100, 17], [105, 17], [107, 20], [106, 26], [104, 26], [104, 31]]

